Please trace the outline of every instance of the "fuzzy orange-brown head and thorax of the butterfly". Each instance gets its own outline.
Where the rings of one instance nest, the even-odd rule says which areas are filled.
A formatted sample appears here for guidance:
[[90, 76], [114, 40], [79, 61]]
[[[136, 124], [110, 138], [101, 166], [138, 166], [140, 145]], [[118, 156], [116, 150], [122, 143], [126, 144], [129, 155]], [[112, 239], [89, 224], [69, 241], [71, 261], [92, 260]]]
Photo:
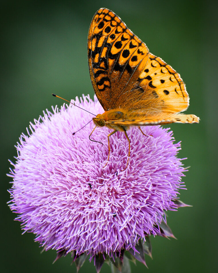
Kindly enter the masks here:
[[114, 129], [117, 131], [126, 131], [129, 126], [122, 125], [112, 125], [110, 122], [113, 120], [124, 120], [126, 119], [126, 111], [124, 109], [111, 109], [109, 111], [105, 111], [103, 114], [98, 114], [96, 118], [93, 118], [93, 122], [95, 125], [99, 127], [107, 126], [110, 129]]

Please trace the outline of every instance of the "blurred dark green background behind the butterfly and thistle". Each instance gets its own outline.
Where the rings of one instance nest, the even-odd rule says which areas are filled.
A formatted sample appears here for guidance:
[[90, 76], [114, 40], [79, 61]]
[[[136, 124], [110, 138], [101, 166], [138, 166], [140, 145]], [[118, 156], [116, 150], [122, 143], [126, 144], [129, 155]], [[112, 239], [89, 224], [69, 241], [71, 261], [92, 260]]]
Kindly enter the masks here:
[[[199, 124], [172, 124], [180, 157], [191, 166], [181, 199], [193, 207], [168, 213], [178, 240], [151, 238], [149, 270], [133, 272], [217, 272], [217, 7], [210, 1], [3, 1], [1, 3], [1, 272], [76, 272], [71, 256], [40, 254], [34, 235], [22, 231], [6, 205], [8, 159], [14, 145], [42, 110], [82, 93], [94, 95], [87, 62], [87, 34], [94, 13], [107, 7], [176, 69], [190, 95], [187, 114]], [[88, 141], [88, 140], [87, 140]], [[88, 261], [80, 272], [96, 272]], [[103, 272], [110, 272], [104, 265]]]

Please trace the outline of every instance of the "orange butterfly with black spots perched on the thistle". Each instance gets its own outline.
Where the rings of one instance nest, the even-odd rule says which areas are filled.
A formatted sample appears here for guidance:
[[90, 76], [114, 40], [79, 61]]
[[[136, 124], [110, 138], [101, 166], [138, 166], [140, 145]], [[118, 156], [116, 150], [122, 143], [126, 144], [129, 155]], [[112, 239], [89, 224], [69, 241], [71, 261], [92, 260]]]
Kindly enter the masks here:
[[[101, 8], [95, 13], [87, 47], [92, 85], [105, 111], [93, 118], [93, 122], [95, 128], [113, 129], [108, 134], [108, 160], [109, 139], [117, 131], [124, 131], [130, 156], [126, 131], [131, 126], [141, 130], [140, 126], [146, 125], [199, 122], [195, 115], [180, 113], [189, 105], [180, 75], [151, 54], [113, 11]], [[128, 162], [129, 157], [126, 168]]]

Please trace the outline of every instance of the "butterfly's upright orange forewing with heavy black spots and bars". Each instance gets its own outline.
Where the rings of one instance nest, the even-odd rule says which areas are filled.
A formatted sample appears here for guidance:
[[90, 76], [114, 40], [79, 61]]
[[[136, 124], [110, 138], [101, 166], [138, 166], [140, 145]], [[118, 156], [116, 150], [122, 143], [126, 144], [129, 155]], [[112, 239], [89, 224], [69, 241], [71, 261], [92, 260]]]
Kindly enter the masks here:
[[133, 95], [148, 58], [145, 43], [116, 14], [104, 8], [96, 12], [89, 28], [88, 60], [92, 85], [104, 110], [119, 107], [128, 94]]

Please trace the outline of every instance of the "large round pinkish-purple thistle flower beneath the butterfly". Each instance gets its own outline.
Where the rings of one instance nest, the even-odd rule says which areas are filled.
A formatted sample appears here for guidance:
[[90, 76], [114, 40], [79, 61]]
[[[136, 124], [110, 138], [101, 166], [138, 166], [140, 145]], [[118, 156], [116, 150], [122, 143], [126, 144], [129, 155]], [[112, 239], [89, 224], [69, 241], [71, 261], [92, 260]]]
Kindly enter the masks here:
[[[96, 97], [74, 102], [102, 112]], [[18, 214], [15, 220], [44, 249], [56, 249], [57, 258], [73, 253], [77, 270], [88, 255], [94, 257], [97, 272], [105, 260], [120, 270], [126, 258], [145, 264], [144, 254], [151, 256], [149, 235], [173, 237], [165, 211], [185, 206], [178, 200], [184, 187], [184, 168], [177, 158], [180, 143], [174, 144], [172, 131], [160, 126], [143, 127], [148, 136], [132, 128], [129, 166], [122, 172], [128, 158], [123, 132], [111, 137], [104, 167], [110, 130], [97, 128], [92, 134], [104, 145], [91, 142], [92, 122], [72, 135], [90, 114], [65, 104], [52, 110], [30, 123], [28, 135], [22, 134], [17, 143], [18, 156], [8, 174], [13, 178], [9, 207]]]

